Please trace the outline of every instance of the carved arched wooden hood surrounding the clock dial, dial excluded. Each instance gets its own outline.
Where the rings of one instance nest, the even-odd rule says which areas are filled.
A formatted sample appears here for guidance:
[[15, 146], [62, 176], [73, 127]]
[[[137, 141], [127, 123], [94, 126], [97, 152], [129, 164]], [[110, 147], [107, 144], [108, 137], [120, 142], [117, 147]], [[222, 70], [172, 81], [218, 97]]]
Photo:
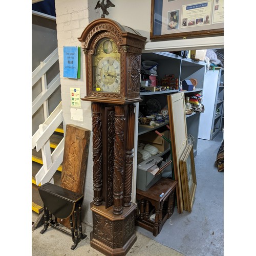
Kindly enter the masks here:
[[[93, 55], [102, 38], [113, 40], [120, 53], [120, 93], [95, 92], [93, 90]], [[127, 104], [139, 102], [141, 51], [146, 37], [136, 30], [122, 26], [115, 20], [100, 18], [91, 22], [78, 38], [86, 56], [87, 95], [82, 100]]]

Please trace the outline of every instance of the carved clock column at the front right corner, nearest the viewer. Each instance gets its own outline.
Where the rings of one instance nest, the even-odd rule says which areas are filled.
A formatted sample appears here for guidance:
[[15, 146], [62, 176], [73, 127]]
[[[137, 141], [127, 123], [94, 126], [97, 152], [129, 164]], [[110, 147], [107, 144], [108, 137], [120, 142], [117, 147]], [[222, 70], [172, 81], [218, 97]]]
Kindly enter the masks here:
[[124, 172], [124, 106], [115, 105], [115, 146], [113, 175], [113, 214], [123, 212], [123, 172]]

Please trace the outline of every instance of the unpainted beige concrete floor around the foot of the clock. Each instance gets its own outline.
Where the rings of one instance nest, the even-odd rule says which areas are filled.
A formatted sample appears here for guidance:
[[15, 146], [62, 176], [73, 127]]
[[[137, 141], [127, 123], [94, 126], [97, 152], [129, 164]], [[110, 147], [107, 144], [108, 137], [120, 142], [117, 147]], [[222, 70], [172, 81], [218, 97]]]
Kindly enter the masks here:
[[[38, 215], [32, 211], [32, 221], [36, 221]], [[32, 231], [32, 255], [33, 256], [100, 256], [104, 255], [101, 252], [95, 250], [90, 245], [90, 232], [92, 227], [82, 223], [82, 231], [87, 234], [87, 238], [81, 240], [74, 250], [70, 247], [73, 245], [72, 239], [68, 234], [65, 234], [53, 227], [48, 227], [44, 234], [41, 234], [43, 226]], [[136, 231], [137, 240], [133, 247], [127, 252], [126, 255], [134, 256], [183, 256], [178, 251], [169, 248], [165, 245], [158, 243], [144, 236], [139, 231]]]

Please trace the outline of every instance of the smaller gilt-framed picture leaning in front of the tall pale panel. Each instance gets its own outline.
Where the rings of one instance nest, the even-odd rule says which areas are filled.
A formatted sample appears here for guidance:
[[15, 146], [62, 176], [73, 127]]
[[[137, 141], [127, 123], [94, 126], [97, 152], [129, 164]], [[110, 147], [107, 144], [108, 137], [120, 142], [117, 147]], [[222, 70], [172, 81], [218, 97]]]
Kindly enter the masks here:
[[182, 177], [182, 191], [184, 197], [184, 209], [188, 212], [192, 211], [196, 188], [197, 178], [194, 161], [193, 145], [188, 144], [180, 161], [180, 170]]

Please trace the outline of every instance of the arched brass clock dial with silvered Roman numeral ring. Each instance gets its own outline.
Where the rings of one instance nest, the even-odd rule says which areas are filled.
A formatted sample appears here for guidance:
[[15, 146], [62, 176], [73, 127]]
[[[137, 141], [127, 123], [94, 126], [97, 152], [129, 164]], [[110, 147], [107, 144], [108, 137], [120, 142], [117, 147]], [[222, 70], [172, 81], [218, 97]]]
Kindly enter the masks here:
[[94, 92], [120, 93], [120, 53], [112, 39], [99, 41], [94, 63]]

